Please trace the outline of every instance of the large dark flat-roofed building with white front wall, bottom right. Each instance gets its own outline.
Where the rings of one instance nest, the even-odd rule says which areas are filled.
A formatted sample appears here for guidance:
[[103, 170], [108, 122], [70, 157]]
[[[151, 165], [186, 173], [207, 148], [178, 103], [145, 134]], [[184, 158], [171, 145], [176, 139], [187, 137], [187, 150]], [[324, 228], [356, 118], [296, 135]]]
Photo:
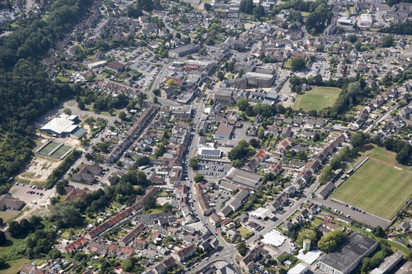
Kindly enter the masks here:
[[378, 242], [367, 236], [352, 233], [336, 251], [319, 260], [319, 269], [332, 274], [349, 274], [378, 247]]

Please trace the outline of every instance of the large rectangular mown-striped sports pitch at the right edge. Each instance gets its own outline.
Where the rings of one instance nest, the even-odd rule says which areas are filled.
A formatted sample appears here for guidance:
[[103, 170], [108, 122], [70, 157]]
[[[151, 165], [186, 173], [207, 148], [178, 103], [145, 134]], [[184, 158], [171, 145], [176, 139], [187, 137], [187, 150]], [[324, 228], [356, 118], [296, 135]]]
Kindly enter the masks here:
[[412, 173], [371, 159], [332, 195], [332, 198], [387, 220], [411, 197]]

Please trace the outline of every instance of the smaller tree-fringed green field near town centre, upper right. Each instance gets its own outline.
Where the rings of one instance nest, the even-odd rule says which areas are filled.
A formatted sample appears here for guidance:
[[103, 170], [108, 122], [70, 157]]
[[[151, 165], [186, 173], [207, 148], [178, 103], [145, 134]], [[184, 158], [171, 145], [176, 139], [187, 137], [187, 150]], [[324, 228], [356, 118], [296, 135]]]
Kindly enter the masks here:
[[298, 95], [293, 110], [322, 110], [331, 107], [341, 92], [340, 88], [326, 86], [313, 86], [312, 90], [306, 91], [304, 95]]

